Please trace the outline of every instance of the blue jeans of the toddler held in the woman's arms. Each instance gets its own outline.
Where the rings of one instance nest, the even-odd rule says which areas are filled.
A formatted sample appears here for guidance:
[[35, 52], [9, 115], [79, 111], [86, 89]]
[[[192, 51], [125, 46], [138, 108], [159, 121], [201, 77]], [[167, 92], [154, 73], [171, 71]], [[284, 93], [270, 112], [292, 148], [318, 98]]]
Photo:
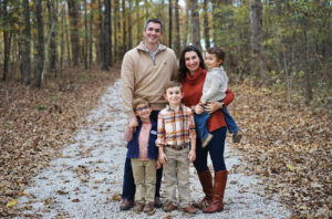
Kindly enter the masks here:
[[[229, 115], [228, 111], [227, 111], [227, 107], [222, 108], [221, 109], [224, 115], [225, 115], [225, 121], [226, 121], [226, 124], [227, 124], [227, 128], [228, 128], [228, 132], [229, 133], [235, 133], [237, 131], [239, 131], [235, 119]], [[208, 114], [206, 111], [201, 114], [194, 114], [195, 116], [195, 122], [196, 122], [196, 126], [197, 126], [197, 133], [200, 137], [200, 139], [205, 139], [208, 134], [209, 134], [209, 131], [207, 128], [207, 121], [208, 118], [210, 117], [210, 114]]]

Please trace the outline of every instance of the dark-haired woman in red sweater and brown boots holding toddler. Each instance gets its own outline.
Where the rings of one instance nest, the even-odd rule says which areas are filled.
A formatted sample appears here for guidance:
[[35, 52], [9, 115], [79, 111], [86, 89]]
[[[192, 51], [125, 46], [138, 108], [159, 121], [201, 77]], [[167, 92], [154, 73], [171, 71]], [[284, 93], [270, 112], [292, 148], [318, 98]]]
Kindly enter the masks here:
[[[204, 108], [199, 105], [203, 85], [207, 74], [204, 65], [203, 55], [198, 49], [193, 45], [187, 46], [179, 60], [179, 81], [183, 84], [184, 104], [197, 113], [201, 114]], [[228, 88], [222, 102], [212, 102], [206, 106], [206, 111], [212, 113], [208, 119], [207, 126], [212, 139], [207, 147], [203, 148], [200, 140], [197, 139], [196, 160], [194, 166], [198, 173], [198, 178], [205, 192], [205, 198], [196, 204], [204, 212], [217, 212], [224, 210], [224, 192], [227, 182], [227, 169], [224, 159], [226, 122], [221, 111], [234, 100], [232, 92]], [[215, 169], [215, 184], [212, 186], [211, 173], [207, 165], [207, 156], [210, 154]]]

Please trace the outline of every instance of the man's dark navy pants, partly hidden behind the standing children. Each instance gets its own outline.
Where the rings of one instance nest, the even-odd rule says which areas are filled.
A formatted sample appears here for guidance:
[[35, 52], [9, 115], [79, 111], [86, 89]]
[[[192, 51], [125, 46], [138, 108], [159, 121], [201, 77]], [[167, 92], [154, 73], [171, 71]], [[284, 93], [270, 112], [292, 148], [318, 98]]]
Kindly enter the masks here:
[[[154, 121], [158, 121], [158, 113], [159, 113], [158, 111], [153, 111], [151, 113]], [[155, 197], [160, 197], [163, 167], [160, 169], [157, 169], [156, 171], [157, 171], [157, 180], [156, 180]], [[124, 168], [124, 179], [122, 186], [122, 199], [134, 200], [135, 191], [136, 191], [136, 187], [135, 187], [135, 181], [133, 176], [132, 161], [131, 158], [126, 158], [125, 168]]]

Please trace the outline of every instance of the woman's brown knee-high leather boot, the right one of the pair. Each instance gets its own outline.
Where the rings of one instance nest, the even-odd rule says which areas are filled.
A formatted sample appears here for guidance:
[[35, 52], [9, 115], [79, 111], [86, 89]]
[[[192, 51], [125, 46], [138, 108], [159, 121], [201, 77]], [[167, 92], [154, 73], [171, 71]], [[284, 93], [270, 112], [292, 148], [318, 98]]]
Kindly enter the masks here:
[[227, 182], [227, 170], [220, 170], [215, 173], [215, 187], [212, 202], [203, 209], [203, 212], [211, 213], [224, 210], [224, 194]]

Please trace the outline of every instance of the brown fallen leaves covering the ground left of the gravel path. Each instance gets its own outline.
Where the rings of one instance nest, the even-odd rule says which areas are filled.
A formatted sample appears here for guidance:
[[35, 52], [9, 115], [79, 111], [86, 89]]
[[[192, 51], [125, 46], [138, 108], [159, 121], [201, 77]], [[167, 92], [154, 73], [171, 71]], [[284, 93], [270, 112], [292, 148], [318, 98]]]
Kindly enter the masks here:
[[[87, 73], [68, 70], [62, 79], [48, 79], [41, 90], [0, 82], [0, 218], [17, 213], [7, 204], [73, 139], [105, 87], [118, 76], [117, 69], [112, 71], [94, 70], [82, 83]], [[66, 81], [70, 86], [59, 88]]]

